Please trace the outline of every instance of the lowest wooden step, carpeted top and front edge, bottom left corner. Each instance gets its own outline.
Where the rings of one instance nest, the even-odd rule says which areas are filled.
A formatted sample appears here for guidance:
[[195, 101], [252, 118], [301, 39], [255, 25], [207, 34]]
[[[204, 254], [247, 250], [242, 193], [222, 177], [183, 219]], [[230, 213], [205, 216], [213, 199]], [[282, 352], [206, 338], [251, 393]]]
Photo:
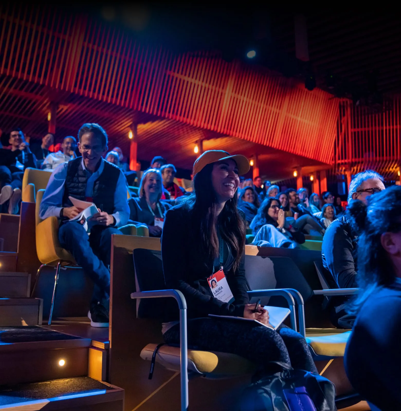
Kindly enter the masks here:
[[123, 411], [124, 390], [87, 376], [0, 387], [1, 411]]

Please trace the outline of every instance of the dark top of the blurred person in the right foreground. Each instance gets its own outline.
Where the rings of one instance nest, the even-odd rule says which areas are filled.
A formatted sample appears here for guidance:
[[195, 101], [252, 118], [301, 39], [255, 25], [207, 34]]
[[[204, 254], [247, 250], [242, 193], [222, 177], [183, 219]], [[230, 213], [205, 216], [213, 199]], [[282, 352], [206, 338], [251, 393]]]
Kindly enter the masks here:
[[382, 411], [401, 409], [401, 284], [378, 288], [359, 310], [345, 349], [352, 386]]

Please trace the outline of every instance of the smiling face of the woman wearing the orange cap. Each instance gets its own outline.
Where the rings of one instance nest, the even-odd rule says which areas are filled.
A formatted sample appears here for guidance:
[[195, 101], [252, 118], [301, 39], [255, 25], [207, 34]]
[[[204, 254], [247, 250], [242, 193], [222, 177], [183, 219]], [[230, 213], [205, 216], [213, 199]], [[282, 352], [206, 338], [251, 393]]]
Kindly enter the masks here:
[[234, 197], [239, 186], [238, 167], [234, 160], [227, 159], [213, 164], [212, 186], [219, 203]]

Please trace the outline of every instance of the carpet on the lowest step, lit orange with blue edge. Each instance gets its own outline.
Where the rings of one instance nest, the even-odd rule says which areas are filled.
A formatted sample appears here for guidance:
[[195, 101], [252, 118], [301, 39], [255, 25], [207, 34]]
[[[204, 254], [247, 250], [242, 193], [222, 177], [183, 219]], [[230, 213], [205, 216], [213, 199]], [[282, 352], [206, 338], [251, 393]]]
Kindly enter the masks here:
[[111, 389], [90, 377], [60, 378], [38, 383], [0, 386], [0, 406]]

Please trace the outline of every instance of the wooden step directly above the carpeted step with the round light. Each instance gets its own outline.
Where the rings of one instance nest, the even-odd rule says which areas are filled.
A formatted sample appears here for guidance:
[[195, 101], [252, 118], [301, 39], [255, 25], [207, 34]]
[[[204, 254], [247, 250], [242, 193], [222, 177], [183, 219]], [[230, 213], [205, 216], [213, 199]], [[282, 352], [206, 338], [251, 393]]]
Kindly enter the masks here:
[[0, 327], [41, 325], [42, 314], [40, 298], [0, 298]]

